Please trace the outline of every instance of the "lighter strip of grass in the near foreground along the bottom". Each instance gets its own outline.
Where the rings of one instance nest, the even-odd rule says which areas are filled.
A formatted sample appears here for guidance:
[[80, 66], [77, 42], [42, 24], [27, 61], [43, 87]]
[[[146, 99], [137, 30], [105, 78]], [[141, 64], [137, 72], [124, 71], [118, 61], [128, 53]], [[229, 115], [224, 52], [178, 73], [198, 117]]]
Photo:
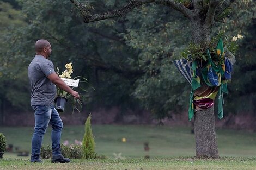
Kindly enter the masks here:
[[2, 160], [0, 169], [127, 169], [127, 170], [188, 170], [188, 169], [237, 169], [255, 170], [256, 158], [221, 158], [221, 159], [194, 159], [194, 158], [165, 158], [165, 159], [125, 159], [125, 160], [72, 160], [71, 163], [30, 163], [25, 160]]

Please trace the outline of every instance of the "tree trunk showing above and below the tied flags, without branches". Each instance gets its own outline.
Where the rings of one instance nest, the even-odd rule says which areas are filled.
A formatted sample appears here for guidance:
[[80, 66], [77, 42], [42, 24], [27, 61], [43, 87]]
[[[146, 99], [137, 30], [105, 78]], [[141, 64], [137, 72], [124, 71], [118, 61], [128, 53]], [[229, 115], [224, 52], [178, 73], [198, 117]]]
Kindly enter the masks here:
[[[210, 42], [210, 29], [203, 16], [197, 16], [191, 20], [192, 41], [200, 44], [205, 49]], [[206, 84], [201, 79], [201, 85], [197, 90], [205, 88]], [[196, 156], [199, 158], [218, 158], [218, 148], [214, 123], [214, 107], [197, 111], [194, 115], [194, 134], [196, 138]]]

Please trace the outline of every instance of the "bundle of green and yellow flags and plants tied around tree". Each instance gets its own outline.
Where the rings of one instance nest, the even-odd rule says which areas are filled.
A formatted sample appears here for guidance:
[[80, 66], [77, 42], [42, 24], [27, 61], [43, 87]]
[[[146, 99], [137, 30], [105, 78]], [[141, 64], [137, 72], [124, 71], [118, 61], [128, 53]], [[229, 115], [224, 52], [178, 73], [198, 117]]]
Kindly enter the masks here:
[[[214, 106], [218, 96], [218, 118], [223, 118], [223, 92], [228, 94], [227, 82], [231, 81], [231, 72], [235, 62], [234, 54], [239, 46], [237, 40], [243, 36], [237, 34], [233, 38], [218, 33], [206, 44], [190, 43], [181, 55], [191, 63], [191, 95], [188, 117], [191, 121], [194, 111]], [[200, 87], [205, 86], [206, 89]], [[199, 92], [195, 93], [198, 89]], [[195, 95], [196, 94], [196, 95]]]

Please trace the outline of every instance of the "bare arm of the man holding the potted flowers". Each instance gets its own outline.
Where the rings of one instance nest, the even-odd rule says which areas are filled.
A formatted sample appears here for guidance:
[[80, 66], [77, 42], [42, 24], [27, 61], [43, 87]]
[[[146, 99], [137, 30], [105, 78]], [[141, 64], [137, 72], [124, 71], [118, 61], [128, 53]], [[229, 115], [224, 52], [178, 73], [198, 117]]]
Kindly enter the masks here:
[[70, 93], [75, 98], [80, 99], [79, 93], [72, 90], [68, 85], [66, 85], [66, 83], [61, 78], [59, 78], [56, 73], [48, 75], [48, 79], [50, 79], [50, 81], [52, 81], [52, 83], [54, 83], [60, 89]]

